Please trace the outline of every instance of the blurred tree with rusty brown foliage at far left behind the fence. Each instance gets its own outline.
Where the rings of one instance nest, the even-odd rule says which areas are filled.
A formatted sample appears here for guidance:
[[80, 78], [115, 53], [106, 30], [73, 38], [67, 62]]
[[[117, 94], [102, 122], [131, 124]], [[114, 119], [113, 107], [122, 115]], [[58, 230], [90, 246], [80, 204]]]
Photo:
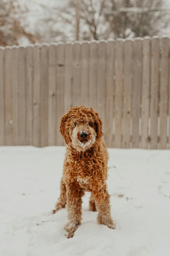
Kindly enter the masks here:
[[17, 0], [0, 1], [0, 45], [19, 44], [25, 37], [30, 43], [35, 43], [37, 37], [21, 26], [19, 14], [22, 10]]

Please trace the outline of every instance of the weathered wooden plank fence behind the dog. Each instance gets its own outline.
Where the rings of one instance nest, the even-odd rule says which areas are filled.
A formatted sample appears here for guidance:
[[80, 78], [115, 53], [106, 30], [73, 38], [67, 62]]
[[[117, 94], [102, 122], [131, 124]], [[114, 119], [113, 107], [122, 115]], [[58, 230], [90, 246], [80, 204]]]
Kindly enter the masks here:
[[0, 48], [0, 145], [64, 145], [60, 118], [98, 110], [108, 147], [170, 148], [169, 38]]

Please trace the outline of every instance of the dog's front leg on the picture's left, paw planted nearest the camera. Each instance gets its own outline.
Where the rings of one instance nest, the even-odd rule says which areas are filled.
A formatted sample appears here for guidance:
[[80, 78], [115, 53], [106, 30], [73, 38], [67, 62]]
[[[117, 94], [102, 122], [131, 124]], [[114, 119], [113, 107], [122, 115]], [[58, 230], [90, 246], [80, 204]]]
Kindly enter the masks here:
[[84, 196], [84, 191], [77, 186], [72, 185], [70, 188], [67, 188], [66, 207], [68, 212], [68, 223], [65, 225], [67, 238], [73, 237], [74, 232], [81, 224], [82, 196]]

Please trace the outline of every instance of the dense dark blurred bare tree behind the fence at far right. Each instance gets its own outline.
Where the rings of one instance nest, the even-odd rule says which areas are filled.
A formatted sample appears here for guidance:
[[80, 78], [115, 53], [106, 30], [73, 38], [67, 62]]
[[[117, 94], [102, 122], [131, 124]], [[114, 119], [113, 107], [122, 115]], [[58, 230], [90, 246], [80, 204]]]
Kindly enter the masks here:
[[163, 28], [168, 26], [168, 19], [164, 11], [147, 12], [117, 12], [122, 7], [125, 8], [163, 8], [163, 0], [110, 0], [108, 7], [113, 12], [105, 13], [106, 21], [110, 24], [111, 31], [115, 38], [144, 37], [158, 35]]

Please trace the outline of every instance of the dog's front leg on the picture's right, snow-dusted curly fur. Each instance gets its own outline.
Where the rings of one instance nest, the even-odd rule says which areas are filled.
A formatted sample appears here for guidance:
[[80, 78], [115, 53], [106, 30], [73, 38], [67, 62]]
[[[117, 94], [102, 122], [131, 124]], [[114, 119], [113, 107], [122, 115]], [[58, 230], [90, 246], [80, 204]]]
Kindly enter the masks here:
[[92, 196], [95, 200], [96, 209], [99, 212], [97, 222], [106, 225], [110, 229], [115, 229], [110, 212], [110, 195], [105, 184], [100, 190], [92, 191]]

